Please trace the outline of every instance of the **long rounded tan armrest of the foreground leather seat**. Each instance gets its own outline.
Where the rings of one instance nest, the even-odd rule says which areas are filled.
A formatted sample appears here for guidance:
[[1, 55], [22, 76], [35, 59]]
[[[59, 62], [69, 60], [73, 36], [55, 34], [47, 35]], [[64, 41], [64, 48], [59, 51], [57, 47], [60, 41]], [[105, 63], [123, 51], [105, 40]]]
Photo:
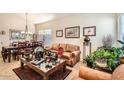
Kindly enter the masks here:
[[79, 77], [87, 80], [110, 80], [112, 74], [81, 66], [79, 70]]

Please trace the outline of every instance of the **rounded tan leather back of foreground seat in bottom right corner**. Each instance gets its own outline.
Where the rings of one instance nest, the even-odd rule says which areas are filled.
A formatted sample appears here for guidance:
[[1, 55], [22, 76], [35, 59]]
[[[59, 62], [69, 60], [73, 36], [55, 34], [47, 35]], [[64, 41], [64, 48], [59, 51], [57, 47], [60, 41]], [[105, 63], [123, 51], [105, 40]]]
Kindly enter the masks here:
[[112, 73], [113, 80], [124, 80], [124, 64], [119, 65]]

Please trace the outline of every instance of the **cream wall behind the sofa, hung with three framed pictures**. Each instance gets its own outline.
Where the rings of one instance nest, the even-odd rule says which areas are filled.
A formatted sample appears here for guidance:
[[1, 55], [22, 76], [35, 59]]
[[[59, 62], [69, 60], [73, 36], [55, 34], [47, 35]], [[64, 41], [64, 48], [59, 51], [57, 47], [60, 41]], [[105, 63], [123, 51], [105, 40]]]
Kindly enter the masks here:
[[[65, 38], [65, 27], [80, 26], [80, 38]], [[102, 45], [102, 37], [111, 34], [116, 37], [116, 15], [115, 14], [76, 14], [55, 21], [36, 25], [36, 30], [52, 29], [53, 43], [70, 43], [79, 45], [83, 50], [83, 27], [96, 26], [96, 36], [91, 37], [92, 51]], [[63, 29], [63, 37], [56, 37], [56, 30]]]

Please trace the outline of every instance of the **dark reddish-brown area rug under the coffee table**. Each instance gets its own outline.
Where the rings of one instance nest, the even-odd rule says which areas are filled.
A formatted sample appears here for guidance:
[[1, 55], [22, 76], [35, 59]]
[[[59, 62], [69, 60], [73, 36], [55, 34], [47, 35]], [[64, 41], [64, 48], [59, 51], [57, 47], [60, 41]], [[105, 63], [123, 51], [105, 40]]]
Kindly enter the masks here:
[[[21, 80], [43, 80], [41, 75], [30, 69], [28, 66], [24, 66], [23, 69], [21, 67], [15, 68], [13, 71]], [[64, 80], [71, 71], [72, 70], [70, 69], [66, 69], [63, 73], [62, 70], [58, 70], [49, 76], [49, 80]]]

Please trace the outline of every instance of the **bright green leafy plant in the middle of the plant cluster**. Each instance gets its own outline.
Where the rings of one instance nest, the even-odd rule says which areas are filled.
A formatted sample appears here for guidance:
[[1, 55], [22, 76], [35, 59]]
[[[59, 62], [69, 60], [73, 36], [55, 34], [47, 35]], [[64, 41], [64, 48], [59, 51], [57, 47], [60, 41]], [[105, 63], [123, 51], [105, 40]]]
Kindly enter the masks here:
[[113, 47], [110, 49], [97, 50], [93, 54], [94, 54], [94, 57], [96, 58], [96, 60], [104, 61], [107, 65], [108, 69], [110, 71], [113, 71], [117, 67], [118, 62], [119, 62], [119, 60], [117, 61], [117, 59], [118, 59], [120, 53], [119, 54], [118, 53], [119, 53], [118, 48]]

